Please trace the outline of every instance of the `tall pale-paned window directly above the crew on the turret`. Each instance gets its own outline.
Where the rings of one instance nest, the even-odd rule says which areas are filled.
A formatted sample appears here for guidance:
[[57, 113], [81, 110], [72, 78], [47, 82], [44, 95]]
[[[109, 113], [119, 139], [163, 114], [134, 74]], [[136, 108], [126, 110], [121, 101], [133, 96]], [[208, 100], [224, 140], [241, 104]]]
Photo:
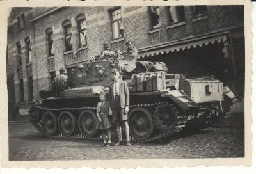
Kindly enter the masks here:
[[121, 8], [111, 10], [112, 39], [124, 38]]

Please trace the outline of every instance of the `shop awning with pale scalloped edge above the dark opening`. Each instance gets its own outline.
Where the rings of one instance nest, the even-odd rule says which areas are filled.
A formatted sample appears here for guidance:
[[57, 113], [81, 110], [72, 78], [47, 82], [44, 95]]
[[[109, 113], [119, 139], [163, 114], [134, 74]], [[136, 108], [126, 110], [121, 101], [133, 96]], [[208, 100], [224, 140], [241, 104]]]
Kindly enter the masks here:
[[161, 55], [164, 53], [168, 54], [174, 51], [184, 51], [185, 49], [190, 49], [191, 47], [202, 47], [202, 45], [209, 45], [209, 43], [213, 44], [215, 42], [224, 43], [223, 52], [225, 53], [225, 57], [227, 57], [229, 49], [226, 35], [202, 36], [197, 38], [184, 39], [177, 42], [161, 43], [152, 47], [140, 48], [138, 49], [138, 51], [139, 56], [141, 58], [145, 58], [148, 56], [154, 56], [159, 54]]

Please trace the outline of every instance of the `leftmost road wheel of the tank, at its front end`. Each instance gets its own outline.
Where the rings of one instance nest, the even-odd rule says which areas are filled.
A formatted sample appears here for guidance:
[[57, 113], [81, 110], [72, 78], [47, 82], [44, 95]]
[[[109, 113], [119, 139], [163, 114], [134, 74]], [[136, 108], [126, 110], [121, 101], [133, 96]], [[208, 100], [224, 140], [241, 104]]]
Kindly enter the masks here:
[[42, 126], [45, 134], [47, 136], [55, 134], [57, 131], [57, 116], [54, 113], [47, 111], [44, 113], [42, 120]]

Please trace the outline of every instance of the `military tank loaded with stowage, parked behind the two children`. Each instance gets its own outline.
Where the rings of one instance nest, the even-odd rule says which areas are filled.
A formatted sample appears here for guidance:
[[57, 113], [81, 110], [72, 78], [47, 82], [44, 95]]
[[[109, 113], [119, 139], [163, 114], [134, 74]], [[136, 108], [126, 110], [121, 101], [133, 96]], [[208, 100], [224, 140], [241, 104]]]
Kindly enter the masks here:
[[46, 137], [100, 139], [95, 129], [97, 103], [100, 91], [108, 90], [114, 68], [129, 88], [131, 141], [147, 143], [184, 129], [202, 129], [228, 115], [224, 95], [233, 100], [236, 96], [221, 81], [168, 74], [164, 63], [159, 65], [148, 68], [113, 59], [80, 64], [68, 72], [70, 87], [58, 97], [40, 91], [40, 99], [30, 107], [31, 123]]

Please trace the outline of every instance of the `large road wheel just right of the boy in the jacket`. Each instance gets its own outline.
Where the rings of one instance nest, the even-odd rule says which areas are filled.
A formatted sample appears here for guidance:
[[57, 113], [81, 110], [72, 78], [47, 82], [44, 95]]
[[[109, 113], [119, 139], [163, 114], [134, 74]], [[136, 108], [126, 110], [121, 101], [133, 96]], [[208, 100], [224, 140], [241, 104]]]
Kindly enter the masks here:
[[142, 107], [136, 107], [129, 113], [131, 136], [138, 140], [148, 139], [153, 132], [152, 114]]

